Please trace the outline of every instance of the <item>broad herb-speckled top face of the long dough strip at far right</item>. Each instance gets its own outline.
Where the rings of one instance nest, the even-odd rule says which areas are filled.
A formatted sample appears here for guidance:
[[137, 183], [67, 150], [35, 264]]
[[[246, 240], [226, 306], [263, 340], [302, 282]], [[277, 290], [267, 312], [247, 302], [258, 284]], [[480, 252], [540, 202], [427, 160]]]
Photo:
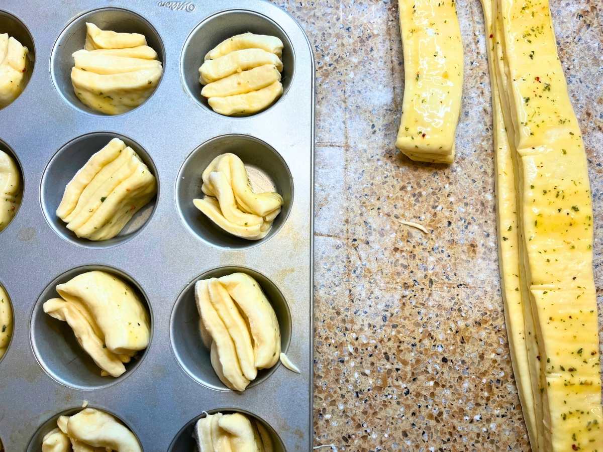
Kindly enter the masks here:
[[[547, 0], [497, 0], [517, 168], [523, 285], [540, 362], [543, 450], [602, 450], [586, 154]], [[505, 111], [507, 115], [507, 111]], [[538, 415], [538, 413], [537, 413]]]

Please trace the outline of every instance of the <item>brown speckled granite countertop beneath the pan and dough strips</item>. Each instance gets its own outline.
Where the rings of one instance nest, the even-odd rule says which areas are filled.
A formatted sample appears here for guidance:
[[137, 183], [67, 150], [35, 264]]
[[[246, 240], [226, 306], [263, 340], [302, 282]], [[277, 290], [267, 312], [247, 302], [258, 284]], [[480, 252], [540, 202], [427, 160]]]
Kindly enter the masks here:
[[[317, 66], [315, 445], [529, 450], [500, 297], [479, 0], [457, 1], [465, 80], [452, 166], [411, 162], [394, 147], [403, 96], [396, 0], [273, 2], [301, 22]], [[551, 7], [589, 157], [603, 287], [603, 5]]]

